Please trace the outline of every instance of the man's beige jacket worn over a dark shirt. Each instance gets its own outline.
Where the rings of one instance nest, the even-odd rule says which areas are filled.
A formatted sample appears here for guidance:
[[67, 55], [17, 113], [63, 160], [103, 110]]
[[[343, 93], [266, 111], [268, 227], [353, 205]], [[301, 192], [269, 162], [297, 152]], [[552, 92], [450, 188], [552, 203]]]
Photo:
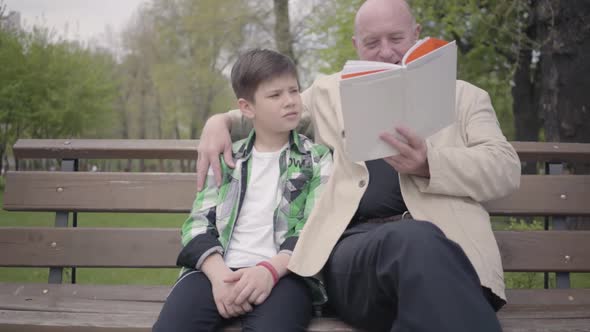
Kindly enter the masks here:
[[[334, 165], [324, 194], [303, 229], [289, 269], [317, 274], [348, 226], [363, 196], [369, 173], [363, 162], [347, 159], [340, 107], [339, 74], [317, 79], [303, 93], [300, 132], [332, 148]], [[401, 192], [412, 217], [436, 224], [457, 242], [482, 285], [503, 299], [504, 278], [490, 217], [480, 202], [508, 195], [520, 184], [520, 161], [502, 134], [488, 94], [457, 81], [457, 122], [427, 140], [430, 179], [400, 175]], [[230, 112], [232, 135], [250, 126]]]

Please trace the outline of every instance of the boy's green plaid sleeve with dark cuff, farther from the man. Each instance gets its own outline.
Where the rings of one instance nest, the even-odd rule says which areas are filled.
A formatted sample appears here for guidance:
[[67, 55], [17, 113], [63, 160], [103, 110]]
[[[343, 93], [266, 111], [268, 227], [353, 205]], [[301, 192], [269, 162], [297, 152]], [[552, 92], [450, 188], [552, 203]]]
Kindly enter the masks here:
[[213, 253], [223, 253], [215, 225], [215, 208], [218, 188], [213, 171], [209, 168], [203, 191], [197, 193], [191, 213], [182, 225], [182, 250], [176, 265], [200, 270], [205, 258]]

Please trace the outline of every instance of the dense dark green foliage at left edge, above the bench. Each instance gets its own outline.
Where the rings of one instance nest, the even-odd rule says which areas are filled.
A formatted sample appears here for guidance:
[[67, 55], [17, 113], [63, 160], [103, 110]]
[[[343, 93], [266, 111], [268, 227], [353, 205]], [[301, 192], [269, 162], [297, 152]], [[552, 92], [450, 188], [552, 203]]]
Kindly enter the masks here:
[[52, 41], [47, 29], [0, 29], [2, 152], [17, 138], [98, 135], [117, 85], [111, 55]]

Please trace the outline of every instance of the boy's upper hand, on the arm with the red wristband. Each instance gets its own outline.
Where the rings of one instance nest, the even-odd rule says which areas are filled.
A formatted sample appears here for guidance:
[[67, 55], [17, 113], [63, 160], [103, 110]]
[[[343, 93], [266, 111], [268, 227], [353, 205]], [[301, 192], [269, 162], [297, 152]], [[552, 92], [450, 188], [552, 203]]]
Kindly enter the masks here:
[[262, 266], [253, 266], [232, 272], [224, 282], [234, 285], [228, 297], [230, 303], [259, 305], [268, 298], [274, 280], [270, 271]]

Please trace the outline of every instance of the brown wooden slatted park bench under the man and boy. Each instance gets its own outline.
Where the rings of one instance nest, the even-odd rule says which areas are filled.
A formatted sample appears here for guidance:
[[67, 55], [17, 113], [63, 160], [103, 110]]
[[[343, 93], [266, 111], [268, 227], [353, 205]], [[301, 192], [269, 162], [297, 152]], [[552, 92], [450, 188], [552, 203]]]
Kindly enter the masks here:
[[[513, 143], [521, 160], [590, 162], [590, 144]], [[80, 212], [189, 212], [194, 173], [76, 171], [82, 159], [194, 159], [191, 140], [19, 140], [23, 159], [58, 159], [61, 171], [6, 174], [4, 209], [55, 212], [55, 227], [0, 229], [0, 266], [47, 267], [42, 284], [0, 283], [0, 331], [149, 331], [166, 286], [63, 282], [64, 267], [174, 267], [178, 228], [72, 227]], [[548, 172], [549, 173], [549, 172]], [[590, 175], [523, 175], [510, 197], [489, 202], [493, 215], [544, 216], [550, 231], [496, 231], [506, 271], [557, 272], [554, 289], [510, 289], [499, 313], [505, 331], [590, 331], [590, 289], [571, 289], [569, 272], [590, 272], [590, 231], [564, 227], [567, 216], [590, 215]], [[178, 227], [184, 216], [171, 216]], [[172, 284], [174, 280], [170, 280]], [[238, 327], [229, 327], [228, 331]], [[352, 331], [315, 318], [311, 331]]]

